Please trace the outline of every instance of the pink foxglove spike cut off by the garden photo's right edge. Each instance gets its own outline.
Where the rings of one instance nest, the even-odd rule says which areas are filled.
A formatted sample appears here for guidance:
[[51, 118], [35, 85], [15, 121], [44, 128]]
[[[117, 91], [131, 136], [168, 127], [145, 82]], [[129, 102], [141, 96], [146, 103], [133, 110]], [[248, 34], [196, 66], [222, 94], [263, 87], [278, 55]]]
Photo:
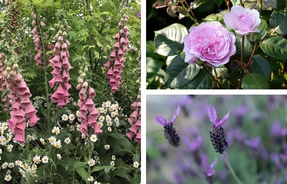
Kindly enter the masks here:
[[130, 140], [133, 139], [135, 136], [135, 141], [140, 143], [140, 132], [141, 132], [141, 102], [140, 102], [140, 95], [137, 96], [137, 101], [132, 103], [131, 108], [134, 110], [129, 118], [129, 123], [132, 125], [129, 130], [130, 132], [127, 133], [127, 136]]

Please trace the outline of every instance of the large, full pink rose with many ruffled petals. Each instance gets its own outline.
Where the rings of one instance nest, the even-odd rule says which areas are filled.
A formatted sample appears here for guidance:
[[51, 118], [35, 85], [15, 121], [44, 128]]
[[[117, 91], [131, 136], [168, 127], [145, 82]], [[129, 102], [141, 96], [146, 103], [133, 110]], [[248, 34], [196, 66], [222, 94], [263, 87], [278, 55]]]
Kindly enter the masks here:
[[191, 27], [189, 34], [183, 38], [186, 52], [185, 62], [196, 64], [197, 58], [208, 65], [218, 67], [226, 64], [235, 54], [235, 36], [224, 28], [220, 22], [202, 22]]

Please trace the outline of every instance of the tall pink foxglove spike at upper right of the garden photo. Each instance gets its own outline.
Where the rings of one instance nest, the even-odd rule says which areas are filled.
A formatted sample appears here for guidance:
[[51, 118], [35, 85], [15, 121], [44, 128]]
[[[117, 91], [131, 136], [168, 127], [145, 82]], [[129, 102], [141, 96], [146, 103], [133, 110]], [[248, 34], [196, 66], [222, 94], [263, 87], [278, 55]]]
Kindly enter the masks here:
[[[124, 12], [127, 8], [123, 7], [121, 12]], [[111, 86], [112, 93], [118, 90], [121, 82], [122, 69], [125, 67], [125, 54], [128, 52], [128, 45], [130, 44], [130, 29], [126, 25], [129, 20], [129, 16], [122, 13], [120, 21], [118, 22], [119, 32], [115, 35], [115, 45], [114, 50], [109, 56], [109, 61], [107, 61], [104, 66], [107, 70], [107, 78], [110, 80], [109, 84]], [[112, 66], [111, 66], [112, 65]]]

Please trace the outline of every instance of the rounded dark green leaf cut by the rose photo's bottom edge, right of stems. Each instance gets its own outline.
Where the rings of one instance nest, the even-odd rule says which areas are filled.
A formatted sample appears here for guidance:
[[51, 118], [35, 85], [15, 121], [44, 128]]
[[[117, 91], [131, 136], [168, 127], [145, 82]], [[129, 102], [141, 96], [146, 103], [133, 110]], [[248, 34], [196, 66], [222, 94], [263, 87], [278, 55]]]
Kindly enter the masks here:
[[242, 78], [243, 89], [269, 89], [268, 81], [259, 74], [247, 74]]

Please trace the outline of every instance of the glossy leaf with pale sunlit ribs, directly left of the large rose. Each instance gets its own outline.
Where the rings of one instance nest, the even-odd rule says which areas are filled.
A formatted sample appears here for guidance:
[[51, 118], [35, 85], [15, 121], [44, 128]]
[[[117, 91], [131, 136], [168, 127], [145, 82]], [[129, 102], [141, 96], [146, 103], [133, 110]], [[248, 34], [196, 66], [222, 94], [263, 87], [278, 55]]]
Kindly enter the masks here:
[[187, 28], [180, 24], [173, 24], [155, 31], [155, 52], [162, 56], [173, 56], [181, 53], [184, 47], [183, 37], [187, 34]]

